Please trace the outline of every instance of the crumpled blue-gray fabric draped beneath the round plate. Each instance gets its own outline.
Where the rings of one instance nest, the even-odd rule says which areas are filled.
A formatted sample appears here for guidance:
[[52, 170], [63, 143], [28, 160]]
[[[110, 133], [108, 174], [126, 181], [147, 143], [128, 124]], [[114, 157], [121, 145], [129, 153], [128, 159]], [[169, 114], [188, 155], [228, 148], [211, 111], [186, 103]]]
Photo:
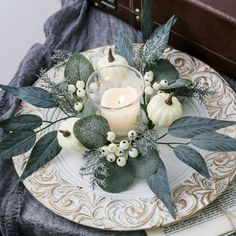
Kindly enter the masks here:
[[[123, 27], [133, 42], [140, 41], [140, 33], [131, 26], [96, 9], [87, 0], [62, 0], [62, 9], [45, 23], [46, 41], [35, 44], [22, 60], [11, 85], [31, 85], [40, 68], [52, 66], [54, 50], [84, 51], [112, 44], [117, 28]], [[234, 89], [236, 83], [228, 79]], [[0, 117], [14, 114], [19, 101], [0, 93]], [[0, 139], [3, 138], [0, 132]], [[42, 206], [18, 181], [12, 161], [0, 162], [0, 232], [3, 236], [60, 236], [60, 235], [145, 235], [144, 232], [108, 232], [74, 224]]]

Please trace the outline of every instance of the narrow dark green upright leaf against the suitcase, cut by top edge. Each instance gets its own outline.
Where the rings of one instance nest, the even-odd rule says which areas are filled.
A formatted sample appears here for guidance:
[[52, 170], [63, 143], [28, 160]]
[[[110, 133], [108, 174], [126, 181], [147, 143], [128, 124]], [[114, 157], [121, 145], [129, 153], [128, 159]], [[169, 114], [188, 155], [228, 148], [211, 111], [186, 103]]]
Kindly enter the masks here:
[[152, 28], [153, 28], [151, 0], [144, 0], [143, 5], [144, 6], [141, 18], [141, 32], [143, 36], [143, 41], [146, 41], [150, 36], [150, 34], [152, 33]]

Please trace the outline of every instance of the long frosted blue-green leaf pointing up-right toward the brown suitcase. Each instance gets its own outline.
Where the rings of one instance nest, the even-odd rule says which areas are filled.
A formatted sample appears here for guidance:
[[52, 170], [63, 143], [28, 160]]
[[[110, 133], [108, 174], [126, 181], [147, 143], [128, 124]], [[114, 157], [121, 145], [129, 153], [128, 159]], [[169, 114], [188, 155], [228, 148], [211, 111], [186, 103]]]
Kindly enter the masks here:
[[146, 64], [153, 64], [160, 58], [169, 40], [170, 30], [176, 22], [172, 16], [164, 25], [159, 26], [149, 37], [143, 47], [142, 60]]

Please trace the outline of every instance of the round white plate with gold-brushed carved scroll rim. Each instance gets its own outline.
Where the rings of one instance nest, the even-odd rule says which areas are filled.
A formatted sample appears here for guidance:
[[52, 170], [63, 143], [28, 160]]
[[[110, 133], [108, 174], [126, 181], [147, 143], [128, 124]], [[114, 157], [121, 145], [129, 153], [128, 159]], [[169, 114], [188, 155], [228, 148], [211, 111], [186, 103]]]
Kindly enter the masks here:
[[[98, 56], [107, 53], [108, 47], [84, 52], [93, 63]], [[211, 87], [217, 93], [207, 97], [204, 104], [189, 100], [183, 105], [184, 115], [209, 116], [217, 119], [236, 120], [236, 95], [229, 85], [203, 62], [174, 49], [165, 50], [168, 58], [176, 66], [181, 77], [200, 79], [201, 84]], [[64, 68], [50, 70], [54, 81], [64, 77]], [[38, 81], [36, 86], [41, 86]], [[41, 109], [22, 102], [19, 114], [33, 113], [43, 120], [61, 118], [58, 109]], [[39, 133], [56, 129], [57, 125]], [[236, 137], [236, 126], [222, 129]], [[39, 137], [38, 137], [39, 138]], [[14, 166], [21, 175], [28, 153], [14, 157]], [[211, 179], [205, 179], [190, 167], [173, 158], [174, 153], [160, 146], [160, 155], [164, 161], [177, 209], [176, 220], [190, 216], [204, 208], [227, 187], [236, 174], [236, 153], [202, 152]], [[92, 190], [87, 179], [79, 175], [82, 158], [78, 153], [62, 151], [48, 165], [29, 176], [24, 185], [44, 206], [54, 213], [83, 225], [107, 230], [139, 230], [166, 225], [175, 220], [165, 206], [151, 192], [145, 180], [137, 179], [125, 192], [111, 194], [97, 188]]]

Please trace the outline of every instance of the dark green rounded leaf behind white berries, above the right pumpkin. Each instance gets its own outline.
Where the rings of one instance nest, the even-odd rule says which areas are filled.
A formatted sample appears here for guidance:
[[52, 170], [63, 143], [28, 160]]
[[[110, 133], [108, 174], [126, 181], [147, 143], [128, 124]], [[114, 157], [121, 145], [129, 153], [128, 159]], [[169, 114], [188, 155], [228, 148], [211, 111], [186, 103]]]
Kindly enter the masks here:
[[149, 64], [145, 67], [145, 71], [150, 70], [154, 73], [154, 81], [157, 82], [167, 80], [171, 83], [175, 82], [179, 78], [179, 72], [166, 59], [159, 59], [155, 64]]

